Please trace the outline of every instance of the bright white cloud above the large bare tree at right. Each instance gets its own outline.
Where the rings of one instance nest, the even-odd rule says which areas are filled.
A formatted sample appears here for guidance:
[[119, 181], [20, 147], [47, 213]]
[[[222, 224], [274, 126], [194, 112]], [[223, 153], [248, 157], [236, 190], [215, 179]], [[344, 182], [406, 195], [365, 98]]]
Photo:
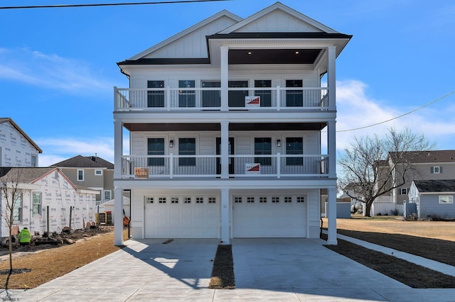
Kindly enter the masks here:
[[[424, 104], [410, 106], [400, 104], [399, 101], [393, 104], [392, 101], [386, 103], [374, 99], [368, 95], [368, 86], [355, 80], [337, 82], [336, 97], [338, 150], [347, 147], [354, 137], [375, 134], [382, 136], [392, 127], [397, 130], [410, 128], [414, 132], [423, 133], [430, 141], [437, 142], [437, 147], [455, 149], [455, 106], [450, 106], [449, 102], [455, 94], [401, 118], [396, 117]], [[427, 100], [427, 103], [430, 101], [432, 100]], [[393, 104], [393, 107], [387, 104]], [[385, 121], [388, 122], [383, 123]], [[369, 125], [373, 126], [367, 127]]]

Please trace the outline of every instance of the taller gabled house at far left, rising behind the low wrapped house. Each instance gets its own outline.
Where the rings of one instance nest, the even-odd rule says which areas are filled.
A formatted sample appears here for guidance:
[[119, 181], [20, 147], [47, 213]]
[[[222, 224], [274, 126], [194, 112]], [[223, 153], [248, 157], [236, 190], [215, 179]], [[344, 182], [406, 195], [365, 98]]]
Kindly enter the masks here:
[[11, 118], [0, 118], [0, 167], [38, 167], [43, 153]]

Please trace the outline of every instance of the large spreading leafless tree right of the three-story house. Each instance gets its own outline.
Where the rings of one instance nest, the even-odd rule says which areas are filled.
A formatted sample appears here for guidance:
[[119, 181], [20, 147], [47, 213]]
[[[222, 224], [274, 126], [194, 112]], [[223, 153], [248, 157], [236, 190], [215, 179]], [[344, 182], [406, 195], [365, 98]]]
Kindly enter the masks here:
[[[365, 216], [370, 216], [373, 201], [402, 186], [412, 175], [418, 174], [412, 166], [418, 155], [434, 147], [424, 135], [406, 128], [397, 132], [390, 128], [383, 138], [355, 138], [338, 157], [341, 173], [338, 183], [345, 194], [365, 205]], [[344, 189], [348, 184], [355, 192]]]

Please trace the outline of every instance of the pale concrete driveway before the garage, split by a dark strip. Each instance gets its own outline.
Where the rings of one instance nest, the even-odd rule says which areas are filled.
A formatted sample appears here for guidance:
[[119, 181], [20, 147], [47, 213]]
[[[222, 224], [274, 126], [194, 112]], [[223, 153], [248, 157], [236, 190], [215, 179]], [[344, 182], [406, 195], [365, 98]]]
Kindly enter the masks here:
[[128, 240], [122, 250], [3, 301], [454, 301], [411, 289], [319, 239], [235, 239], [236, 289], [208, 289], [218, 240]]

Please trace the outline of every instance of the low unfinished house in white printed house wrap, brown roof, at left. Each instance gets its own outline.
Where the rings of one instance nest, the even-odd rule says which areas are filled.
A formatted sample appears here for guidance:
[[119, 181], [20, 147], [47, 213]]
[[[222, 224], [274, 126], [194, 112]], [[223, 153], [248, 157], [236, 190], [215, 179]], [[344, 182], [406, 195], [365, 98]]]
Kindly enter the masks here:
[[[66, 226], [80, 229], [95, 222], [95, 195], [99, 192], [73, 184], [58, 168], [0, 168], [0, 186], [19, 184], [21, 195], [14, 207], [14, 225], [30, 232], [61, 232]], [[9, 193], [11, 194], [11, 193]], [[9, 200], [11, 201], [11, 195]], [[6, 198], [0, 194], [1, 213], [6, 211]], [[72, 208], [70, 208], [72, 207]], [[1, 217], [0, 237], [9, 235]]]

